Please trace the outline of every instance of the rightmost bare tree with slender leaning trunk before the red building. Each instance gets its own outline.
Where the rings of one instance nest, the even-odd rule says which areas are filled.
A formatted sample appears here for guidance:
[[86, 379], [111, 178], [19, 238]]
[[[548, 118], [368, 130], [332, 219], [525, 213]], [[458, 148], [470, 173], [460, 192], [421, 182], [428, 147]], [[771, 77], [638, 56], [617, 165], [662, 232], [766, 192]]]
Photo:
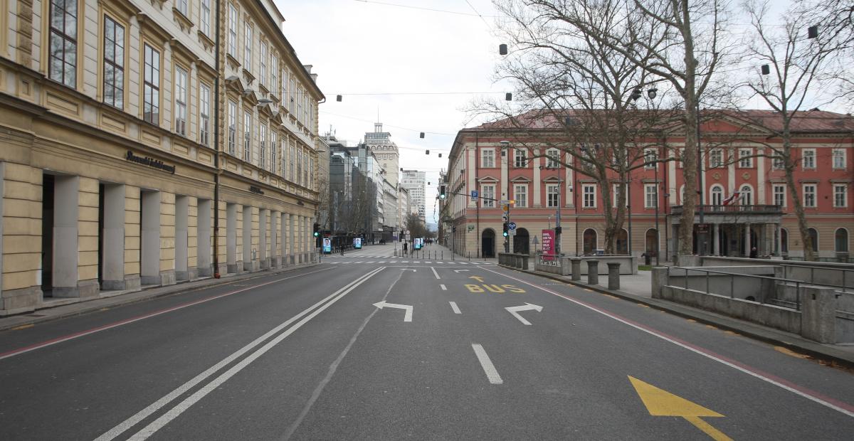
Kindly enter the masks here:
[[798, 232], [804, 244], [804, 259], [815, 260], [804, 206], [794, 179], [794, 171], [802, 159], [792, 143], [792, 122], [800, 116], [804, 106], [817, 107], [817, 102], [827, 104], [839, 98], [822, 96], [819, 89], [844, 74], [834, 62], [834, 56], [844, 49], [844, 42], [840, 41], [839, 32], [825, 32], [817, 38], [808, 38], [808, 11], [790, 9], [779, 17], [783, 26], [767, 26], [767, 1], [746, 0], [742, 7], [751, 18], [752, 32], [747, 45], [750, 55], [769, 70], [769, 75], [751, 76], [747, 86], [754, 96], [761, 97], [779, 115], [781, 129], [777, 135], [782, 146], [769, 147], [786, 172], [787, 189], [792, 195]]

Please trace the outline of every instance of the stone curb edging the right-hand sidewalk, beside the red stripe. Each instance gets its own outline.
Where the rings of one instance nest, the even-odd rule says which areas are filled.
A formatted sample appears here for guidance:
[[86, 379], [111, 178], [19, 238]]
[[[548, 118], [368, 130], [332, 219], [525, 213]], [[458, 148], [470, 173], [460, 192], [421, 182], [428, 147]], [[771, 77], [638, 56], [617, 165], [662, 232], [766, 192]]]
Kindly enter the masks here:
[[[540, 276], [547, 279], [552, 279], [554, 281], [562, 281], [567, 283], [573, 287], [582, 287], [591, 289], [598, 293], [609, 294], [614, 297], [623, 300], [629, 300], [630, 302], [634, 302], [640, 305], [646, 305], [650, 308], [656, 310], [662, 310], [674, 316], [680, 316], [683, 318], [690, 318], [696, 320], [697, 322], [701, 322], [707, 325], [713, 325], [716, 328], [725, 329], [728, 331], [733, 331], [738, 334], [744, 335], [746, 337], [750, 337], [751, 339], [757, 339], [763, 341], [765, 343], [770, 343], [774, 345], [783, 346], [787, 349], [798, 351], [804, 355], [808, 355], [813, 357], [816, 360], [822, 360], [826, 362], [833, 363], [834, 365], [841, 365], [845, 368], [854, 368], [854, 354], [849, 354], [845, 351], [834, 351], [833, 348], [828, 348], [823, 346], [821, 343], [815, 343], [810, 341], [804, 342], [793, 342], [787, 339], [783, 339], [784, 335], [777, 334], [778, 331], [774, 329], [762, 329], [759, 328], [762, 325], [754, 325], [752, 323], [745, 323], [749, 325], [750, 328], [746, 326], [738, 326], [739, 322], [734, 322], [736, 319], [729, 319], [729, 321], [723, 321], [717, 316], [712, 315], [709, 312], [703, 310], [697, 310], [688, 306], [683, 306], [679, 304], [675, 304], [672, 302], [668, 302], [666, 300], [658, 300], [658, 299], [646, 299], [644, 297], [637, 296], [635, 294], [626, 293], [624, 291], [615, 291], [610, 290], [605, 287], [601, 287], [600, 285], [588, 285], [587, 283], [579, 283], [578, 281], [568, 281], [564, 280], [560, 276], [554, 276], [549, 273], [542, 273], [539, 271], [526, 271], [526, 270], [518, 270], [516, 268], [512, 268], [505, 265], [499, 265], [501, 268], [506, 268], [508, 270], [515, 270], [518, 272], [522, 272], [524, 274], [530, 274], [533, 276]], [[753, 330], [751, 328], [757, 328]], [[782, 331], [780, 331], [782, 332]], [[794, 336], [794, 335], [793, 335]], [[797, 337], [797, 336], [794, 336]]]

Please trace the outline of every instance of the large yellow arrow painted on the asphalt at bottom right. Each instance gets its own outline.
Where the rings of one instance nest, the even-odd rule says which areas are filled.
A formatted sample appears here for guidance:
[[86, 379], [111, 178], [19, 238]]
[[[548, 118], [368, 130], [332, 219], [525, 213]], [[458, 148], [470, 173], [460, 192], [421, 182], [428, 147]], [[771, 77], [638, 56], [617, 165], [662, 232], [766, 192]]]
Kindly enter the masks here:
[[676, 397], [670, 392], [658, 389], [658, 387], [638, 380], [631, 375], [629, 375], [629, 381], [632, 382], [632, 386], [635, 386], [635, 392], [638, 392], [640, 401], [646, 406], [649, 415], [681, 416], [716, 441], [732, 440], [709, 423], [700, 420], [701, 416], [722, 417], [723, 415], [714, 410], [706, 409], [697, 403], [692, 403], [685, 398]]

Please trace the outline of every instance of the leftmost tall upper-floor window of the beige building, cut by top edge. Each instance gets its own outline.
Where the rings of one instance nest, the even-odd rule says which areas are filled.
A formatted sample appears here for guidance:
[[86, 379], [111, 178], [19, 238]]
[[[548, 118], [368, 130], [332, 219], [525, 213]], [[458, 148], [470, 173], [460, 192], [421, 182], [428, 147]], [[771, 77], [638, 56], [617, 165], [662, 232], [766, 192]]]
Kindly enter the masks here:
[[77, 86], [77, 0], [50, 0], [49, 75]]

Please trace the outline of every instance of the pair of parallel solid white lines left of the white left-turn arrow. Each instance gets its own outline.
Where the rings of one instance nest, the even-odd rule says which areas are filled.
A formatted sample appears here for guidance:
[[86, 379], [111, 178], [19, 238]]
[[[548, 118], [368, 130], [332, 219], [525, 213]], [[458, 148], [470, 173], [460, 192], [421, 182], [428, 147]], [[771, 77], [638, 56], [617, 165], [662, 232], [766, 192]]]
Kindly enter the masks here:
[[[281, 339], [286, 338], [288, 335], [290, 335], [290, 333], [292, 333], [293, 331], [295, 331], [297, 328], [301, 327], [301, 326], [302, 326], [302, 323], [307, 322], [307, 321], [308, 321], [308, 320], [310, 320], [313, 316], [316, 316], [317, 314], [319, 314], [319, 312], [320, 312], [320, 311], [325, 310], [329, 305], [332, 305], [332, 304], [333, 304], [333, 303], [335, 303], [338, 299], [341, 299], [344, 295], [346, 295], [347, 293], [349, 293], [350, 291], [352, 291], [353, 289], [355, 289], [356, 287], [358, 287], [359, 285], [361, 285], [361, 284], [362, 284], [362, 282], [364, 282], [364, 281], [368, 280], [368, 279], [369, 279], [369, 278], [371, 278], [372, 276], [376, 275], [378, 272], [382, 271], [382, 270], [383, 270], [383, 268], [384, 268], [384, 267], [377, 268], [377, 270], [373, 270], [373, 271], [371, 271], [371, 272], [367, 273], [365, 276], [362, 276], [362, 277], [360, 277], [359, 279], [356, 279], [355, 281], [351, 281], [350, 283], [348, 283], [347, 285], [345, 285], [345, 286], [344, 286], [344, 287], [342, 287], [341, 289], [337, 290], [335, 293], [331, 293], [331, 294], [330, 294], [328, 297], [326, 297], [325, 299], [322, 299], [322, 300], [320, 300], [318, 303], [315, 303], [314, 305], [309, 306], [308, 308], [306, 308], [305, 310], [303, 310], [303, 311], [302, 311], [302, 312], [300, 312], [299, 314], [297, 314], [297, 315], [295, 315], [295, 316], [293, 316], [293, 317], [290, 317], [290, 319], [288, 319], [286, 322], [284, 322], [284, 323], [282, 323], [282, 324], [278, 325], [276, 328], [272, 328], [269, 332], [267, 332], [267, 333], [266, 333], [266, 334], [264, 334], [264, 335], [261, 335], [261, 336], [260, 336], [260, 337], [258, 337], [257, 339], [254, 339], [251, 343], [249, 343], [249, 345], [245, 345], [245, 346], [243, 346], [242, 348], [240, 348], [240, 349], [238, 349], [237, 351], [235, 351], [234, 353], [232, 353], [230, 356], [225, 357], [225, 358], [224, 358], [222, 361], [220, 361], [219, 363], [214, 364], [213, 366], [211, 366], [210, 368], [208, 368], [208, 370], [206, 370], [206, 371], [202, 372], [202, 374], [198, 374], [198, 375], [196, 375], [196, 377], [194, 377], [192, 380], [187, 381], [186, 383], [184, 383], [184, 384], [183, 384], [183, 385], [181, 385], [181, 386], [178, 386], [178, 388], [176, 388], [175, 390], [173, 390], [173, 392], [169, 392], [165, 397], [162, 397], [161, 399], [159, 399], [159, 400], [155, 401], [154, 403], [149, 404], [149, 406], [148, 406], [148, 407], [146, 407], [145, 409], [140, 410], [139, 412], [137, 412], [137, 414], [136, 414], [136, 415], [133, 415], [133, 416], [131, 416], [130, 418], [128, 418], [127, 420], [120, 422], [120, 423], [119, 423], [119, 425], [117, 425], [117, 426], [113, 427], [113, 428], [112, 428], [112, 429], [110, 429], [108, 432], [105, 432], [105, 433], [104, 433], [104, 434], [102, 434], [100, 437], [96, 438], [96, 440], [95, 440], [95, 441], [108, 441], [108, 440], [111, 440], [111, 439], [113, 439], [113, 438], [115, 438], [115, 437], [119, 436], [119, 435], [120, 435], [120, 434], [122, 434], [123, 432], [126, 432], [126, 431], [127, 431], [128, 429], [130, 429], [132, 426], [136, 426], [140, 421], [143, 421], [144, 419], [148, 418], [150, 415], [154, 414], [156, 411], [158, 411], [158, 410], [160, 410], [161, 408], [163, 408], [164, 406], [166, 406], [168, 403], [171, 403], [175, 398], [180, 397], [181, 395], [183, 395], [185, 392], [189, 391], [189, 390], [190, 390], [191, 388], [193, 388], [194, 386], [198, 385], [199, 383], [201, 383], [201, 382], [202, 382], [202, 381], [204, 381], [204, 380], [207, 380], [207, 379], [208, 379], [208, 377], [210, 377], [211, 375], [215, 374], [217, 371], [219, 371], [219, 369], [224, 368], [225, 366], [227, 366], [228, 364], [230, 364], [231, 362], [233, 362], [234, 360], [236, 360], [238, 357], [243, 356], [243, 354], [245, 354], [246, 352], [249, 352], [249, 351], [253, 350], [256, 346], [258, 346], [258, 345], [260, 345], [261, 343], [263, 343], [266, 339], [269, 339], [272, 335], [275, 335], [275, 334], [277, 334], [279, 331], [281, 331], [282, 329], [287, 328], [291, 323], [296, 322], [297, 320], [299, 320], [299, 319], [300, 319], [300, 317], [305, 316], [305, 315], [306, 315], [306, 314], [308, 314], [311, 310], [314, 310], [315, 308], [317, 308], [318, 306], [320, 306], [320, 308], [319, 308], [319, 309], [315, 310], [315, 312], [314, 312], [314, 314], [313, 314], [312, 316], [308, 316], [307, 318], [303, 319], [301, 322], [298, 322], [298, 323], [297, 323], [293, 328], [288, 329], [288, 331], [286, 331], [284, 334], [282, 334], [282, 335], [280, 335], [280, 336], [278, 337], [278, 338], [281, 338]], [[338, 297], [336, 297], [336, 295], [337, 295]], [[331, 299], [331, 300], [330, 300], [330, 299]], [[325, 303], [327, 300], [330, 300], [330, 301], [324, 305], [324, 303]], [[321, 306], [321, 305], [322, 305], [322, 306]], [[284, 335], [284, 336], [283, 336], [283, 335]], [[277, 339], [278, 339], [278, 338], [277, 338]], [[279, 341], [281, 341], [281, 339], [279, 339], [278, 341], [277, 341], [277, 340], [272, 340], [272, 341], [271, 341], [270, 343], [268, 343], [267, 345], [264, 345], [260, 350], [256, 351], [253, 355], [258, 354], [258, 357], [260, 357], [260, 355], [261, 355], [262, 353], [264, 353], [264, 352], [266, 352], [266, 351], [269, 351], [269, 350], [270, 350], [270, 348], [272, 348], [272, 346], [273, 346], [273, 345], [278, 344], [278, 342], [279, 342]], [[271, 345], [271, 344], [272, 344], [272, 345]], [[261, 352], [261, 351], [263, 351], [263, 352]], [[260, 352], [260, 353], [259, 353], [259, 352]], [[252, 356], [250, 356], [250, 357], [252, 357]], [[256, 358], [257, 358], [257, 357], [256, 357]], [[243, 359], [243, 362], [246, 362], [246, 360], [248, 360], [248, 359], [249, 359], [249, 357], [244, 358], [244, 359]], [[249, 363], [245, 363], [245, 364], [243, 364], [243, 362], [242, 362], [242, 363], [240, 363], [240, 364], [235, 365], [234, 367], [232, 367], [231, 369], [229, 369], [228, 371], [226, 371], [226, 372], [225, 372], [225, 374], [229, 374], [229, 373], [231, 373], [231, 374], [229, 374], [229, 375], [228, 375], [228, 377], [223, 378], [223, 377], [225, 376], [225, 374], [222, 374], [222, 375], [220, 375], [216, 380], [214, 380], [214, 382], [215, 382], [215, 381], [218, 381], [218, 380], [220, 380], [220, 379], [222, 379], [222, 380], [219, 382], [219, 384], [222, 384], [222, 382], [224, 382], [225, 380], [228, 380], [228, 378], [230, 378], [230, 377], [231, 377], [231, 375], [233, 375], [233, 374], [237, 374], [237, 372], [238, 372], [240, 369], [244, 368], [247, 364], [249, 364]], [[237, 369], [237, 370], [235, 370], [235, 369]], [[233, 372], [232, 372], [232, 371], [233, 371]], [[211, 386], [212, 384], [213, 384], [213, 382], [212, 382], [212, 383], [208, 383], [208, 386]], [[206, 387], [207, 387], [207, 386], [206, 386]], [[135, 439], [140, 439], [140, 438], [138, 438], [139, 436], [142, 436], [142, 437], [143, 437], [142, 439], [144, 439], [144, 438], [148, 438], [148, 436], [150, 436], [152, 433], [156, 432], [156, 431], [157, 431], [157, 429], [161, 428], [162, 426], [165, 426], [169, 421], [172, 421], [176, 416], [180, 415], [180, 413], [181, 413], [181, 412], [184, 412], [184, 410], [188, 409], [188, 408], [189, 408], [193, 403], [196, 403], [196, 401], [198, 401], [198, 400], [202, 399], [202, 397], [204, 397], [205, 395], [207, 395], [209, 392], [213, 391], [213, 389], [214, 389], [214, 388], [215, 388], [215, 386], [214, 386], [213, 388], [209, 388], [209, 389], [207, 389], [207, 392], [205, 392], [205, 389], [204, 389], [204, 388], [203, 388], [203, 389], [200, 389], [200, 390], [199, 390], [199, 391], [197, 391], [195, 394], [193, 394], [193, 395], [192, 395], [192, 396], [190, 396], [189, 398], [185, 399], [183, 402], [178, 403], [178, 405], [177, 405], [177, 406], [175, 406], [175, 408], [173, 408], [173, 409], [172, 409], [172, 411], [170, 411], [170, 413], [167, 413], [167, 414], [165, 414], [165, 415], [162, 415], [160, 418], [158, 418], [157, 420], [155, 420], [155, 421], [153, 421], [151, 424], [149, 424], [149, 426], [146, 426], [145, 428], [143, 428], [143, 430], [142, 430], [142, 431], [137, 432], [137, 434], [136, 434], [136, 435], [134, 435], [132, 439], [134, 439], [134, 438], [135, 438]], [[202, 392], [203, 392], [203, 393], [202, 393]], [[200, 394], [201, 394], [201, 395], [200, 395]], [[197, 396], [197, 397], [196, 397], [196, 396]], [[188, 403], [188, 400], [190, 400], [190, 398], [193, 398], [193, 397], [196, 397], [196, 400], [195, 400], [195, 401], [193, 401], [192, 403]], [[174, 414], [173, 416], [171, 416], [171, 417], [169, 417], [169, 418], [167, 419], [167, 417], [168, 417], [172, 412], [174, 412], [176, 409], [178, 409], [178, 407], [179, 407], [179, 406], [182, 406], [184, 403], [187, 403], [187, 404], [186, 404], [182, 409], [180, 409], [180, 410], [178, 411], [178, 413]], [[153, 425], [157, 424], [158, 422], [160, 422], [161, 424], [160, 424], [159, 426], [157, 426], [156, 428], [154, 428], [154, 426], [153, 426]], [[141, 433], [142, 433], [142, 432], [146, 432], [146, 431], [147, 431], [147, 429], [149, 429], [149, 428], [153, 428], [154, 430], [150, 430], [150, 431], [148, 431], [148, 432], [149, 432], [149, 433], [148, 433], [148, 435], [141, 435]]]

